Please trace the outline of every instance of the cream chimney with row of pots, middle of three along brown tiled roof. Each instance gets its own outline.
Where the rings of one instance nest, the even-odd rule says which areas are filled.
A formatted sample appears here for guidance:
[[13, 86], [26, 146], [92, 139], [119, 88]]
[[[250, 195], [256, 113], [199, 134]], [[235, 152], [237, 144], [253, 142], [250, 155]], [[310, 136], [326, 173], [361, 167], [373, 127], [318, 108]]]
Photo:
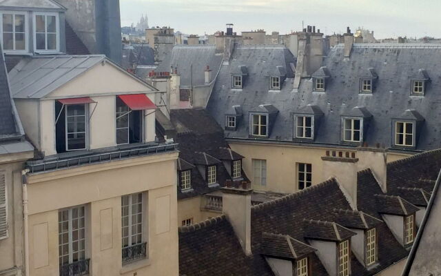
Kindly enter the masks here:
[[358, 158], [355, 151], [326, 150], [323, 160], [323, 177], [335, 177], [353, 210], [357, 210]]

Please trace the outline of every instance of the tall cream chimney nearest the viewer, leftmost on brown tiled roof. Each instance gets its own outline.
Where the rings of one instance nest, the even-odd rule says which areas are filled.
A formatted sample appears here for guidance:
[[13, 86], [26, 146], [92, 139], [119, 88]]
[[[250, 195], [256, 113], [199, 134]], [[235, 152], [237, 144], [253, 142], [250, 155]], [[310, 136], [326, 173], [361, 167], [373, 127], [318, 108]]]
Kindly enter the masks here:
[[225, 214], [239, 239], [246, 255], [251, 255], [251, 184], [242, 181], [239, 188], [234, 188], [231, 181], [221, 188], [222, 213]]

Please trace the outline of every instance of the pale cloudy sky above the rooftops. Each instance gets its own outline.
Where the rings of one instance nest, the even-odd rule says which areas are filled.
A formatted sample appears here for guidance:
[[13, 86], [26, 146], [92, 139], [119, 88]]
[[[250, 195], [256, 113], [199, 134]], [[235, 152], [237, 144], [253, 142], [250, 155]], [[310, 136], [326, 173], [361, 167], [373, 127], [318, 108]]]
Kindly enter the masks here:
[[302, 22], [325, 34], [373, 30], [376, 39], [441, 37], [440, 0], [120, 0], [121, 26], [147, 14], [149, 26], [170, 26], [185, 34], [213, 34], [234, 23], [234, 31], [264, 29], [280, 34]]

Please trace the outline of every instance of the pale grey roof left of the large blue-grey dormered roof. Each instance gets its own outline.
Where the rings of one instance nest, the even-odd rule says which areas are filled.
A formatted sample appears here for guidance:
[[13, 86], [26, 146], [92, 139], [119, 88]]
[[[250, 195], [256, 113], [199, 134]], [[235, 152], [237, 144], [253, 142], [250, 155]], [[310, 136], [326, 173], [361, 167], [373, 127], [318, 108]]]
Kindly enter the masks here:
[[[172, 50], [170, 59], [158, 64], [157, 71], [170, 72], [170, 68], [178, 68], [178, 74], [181, 75], [181, 86], [201, 86], [205, 81], [205, 69], [209, 66], [212, 70], [212, 79], [216, 75], [223, 55], [216, 54], [216, 46], [185, 46], [176, 45]], [[191, 77], [190, 66], [193, 66]], [[192, 79], [192, 81], [191, 81]], [[192, 82], [192, 83], [191, 83]]]

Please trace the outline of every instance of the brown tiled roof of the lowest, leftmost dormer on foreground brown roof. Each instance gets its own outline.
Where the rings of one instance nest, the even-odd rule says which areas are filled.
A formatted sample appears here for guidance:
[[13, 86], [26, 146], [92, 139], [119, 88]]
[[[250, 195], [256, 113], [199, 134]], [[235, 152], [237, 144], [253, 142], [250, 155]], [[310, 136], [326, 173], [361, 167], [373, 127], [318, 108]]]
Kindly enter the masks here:
[[298, 260], [314, 253], [316, 248], [300, 242], [289, 235], [262, 233], [262, 254], [269, 257], [281, 257]]

